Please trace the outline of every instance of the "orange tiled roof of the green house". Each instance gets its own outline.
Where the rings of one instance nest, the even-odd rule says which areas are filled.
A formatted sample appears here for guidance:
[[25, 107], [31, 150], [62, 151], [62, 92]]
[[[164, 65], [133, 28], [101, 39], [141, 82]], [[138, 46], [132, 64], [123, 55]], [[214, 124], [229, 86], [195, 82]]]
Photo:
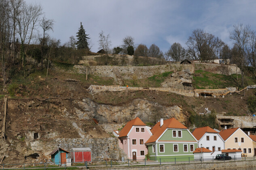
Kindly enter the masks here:
[[163, 121], [162, 127], [160, 127], [160, 122], [157, 122], [157, 124], [154, 125], [154, 127], [151, 129], [151, 133], [153, 135], [148, 139], [148, 141], [146, 141], [146, 143], [155, 142], [167, 128], [188, 129], [175, 118], [169, 118]]

